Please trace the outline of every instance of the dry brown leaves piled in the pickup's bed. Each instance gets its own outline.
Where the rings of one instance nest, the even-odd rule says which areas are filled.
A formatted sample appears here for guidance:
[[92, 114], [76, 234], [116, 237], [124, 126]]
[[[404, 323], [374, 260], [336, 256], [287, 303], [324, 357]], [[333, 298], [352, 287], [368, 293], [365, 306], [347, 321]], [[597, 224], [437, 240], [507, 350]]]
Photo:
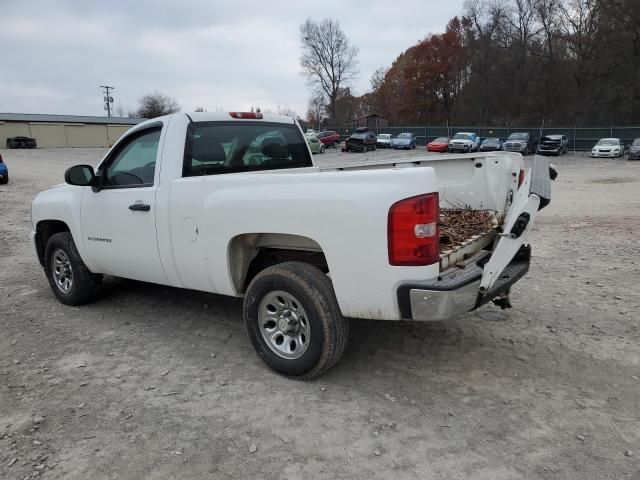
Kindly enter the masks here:
[[440, 210], [440, 246], [454, 249], [496, 225], [495, 214], [489, 210], [443, 208]]

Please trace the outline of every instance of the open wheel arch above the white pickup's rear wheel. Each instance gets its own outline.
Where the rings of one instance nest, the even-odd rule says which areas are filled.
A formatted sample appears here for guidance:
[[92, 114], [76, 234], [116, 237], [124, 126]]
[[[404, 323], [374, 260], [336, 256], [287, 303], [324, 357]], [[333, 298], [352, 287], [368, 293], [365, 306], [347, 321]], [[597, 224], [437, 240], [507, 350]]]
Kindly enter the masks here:
[[329, 267], [320, 244], [312, 238], [286, 233], [244, 233], [227, 248], [229, 275], [237, 293], [244, 293], [262, 270], [278, 263], [308, 263], [327, 273]]

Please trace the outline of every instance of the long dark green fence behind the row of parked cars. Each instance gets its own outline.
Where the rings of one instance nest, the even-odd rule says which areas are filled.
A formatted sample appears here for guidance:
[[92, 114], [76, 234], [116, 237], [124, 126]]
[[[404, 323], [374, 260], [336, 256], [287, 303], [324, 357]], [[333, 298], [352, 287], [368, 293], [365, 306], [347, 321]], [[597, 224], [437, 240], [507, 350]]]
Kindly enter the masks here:
[[[340, 134], [344, 140], [353, 133], [355, 127], [327, 127]], [[498, 137], [505, 140], [514, 132], [529, 132], [534, 136], [540, 135], [540, 127], [509, 128], [509, 127], [381, 127], [373, 129], [376, 134], [389, 133], [393, 137], [400, 133], [411, 132], [416, 136], [416, 144], [425, 146], [438, 137], [451, 137], [457, 132], [475, 132], [481, 138]], [[640, 138], [640, 127], [566, 127], [544, 128], [542, 135], [565, 135], [569, 140], [569, 150], [589, 151], [601, 138], [621, 138], [626, 145]]]

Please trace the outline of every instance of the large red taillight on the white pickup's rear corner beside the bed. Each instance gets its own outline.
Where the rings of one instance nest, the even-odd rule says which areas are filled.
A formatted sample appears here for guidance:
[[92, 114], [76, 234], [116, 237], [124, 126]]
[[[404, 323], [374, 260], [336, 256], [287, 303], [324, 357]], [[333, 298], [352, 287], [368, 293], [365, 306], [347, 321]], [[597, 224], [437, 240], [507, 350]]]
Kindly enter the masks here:
[[423, 266], [440, 261], [438, 194], [405, 198], [389, 209], [387, 236], [391, 265]]

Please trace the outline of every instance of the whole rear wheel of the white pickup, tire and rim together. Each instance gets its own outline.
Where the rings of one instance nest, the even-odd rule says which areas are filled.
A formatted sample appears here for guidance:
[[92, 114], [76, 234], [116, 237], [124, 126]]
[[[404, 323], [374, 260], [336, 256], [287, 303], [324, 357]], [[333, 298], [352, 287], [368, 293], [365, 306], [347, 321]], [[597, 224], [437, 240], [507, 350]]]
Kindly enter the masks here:
[[262, 360], [301, 379], [335, 365], [349, 337], [331, 280], [302, 262], [280, 263], [256, 275], [244, 298], [244, 322]]

